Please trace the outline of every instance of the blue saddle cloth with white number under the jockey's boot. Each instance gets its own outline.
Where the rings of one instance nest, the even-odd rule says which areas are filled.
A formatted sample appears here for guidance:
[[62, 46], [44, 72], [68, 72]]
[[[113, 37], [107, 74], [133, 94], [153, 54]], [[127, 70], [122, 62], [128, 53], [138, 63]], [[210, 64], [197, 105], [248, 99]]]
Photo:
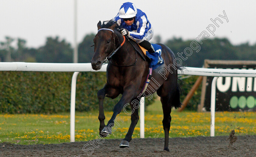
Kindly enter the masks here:
[[[151, 59], [151, 62], [149, 63], [149, 68], [152, 68], [154, 70], [154, 69], [158, 68], [159, 66], [163, 65], [164, 60], [161, 57], [162, 47], [157, 44], [151, 44], [151, 45], [154, 47], [155, 53], [149, 53], [147, 51], [146, 55]], [[162, 63], [158, 63], [158, 56], [162, 59]]]

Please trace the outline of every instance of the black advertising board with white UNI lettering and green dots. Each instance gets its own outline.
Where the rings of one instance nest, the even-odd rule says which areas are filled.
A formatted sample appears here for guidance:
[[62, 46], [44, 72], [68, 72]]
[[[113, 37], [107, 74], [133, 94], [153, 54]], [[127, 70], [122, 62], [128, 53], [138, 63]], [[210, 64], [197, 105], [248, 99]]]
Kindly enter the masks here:
[[[205, 60], [204, 67], [255, 70], [256, 61]], [[205, 88], [205, 94], [202, 94], [201, 103], [204, 102], [204, 109], [206, 111], [210, 111], [211, 107], [213, 78], [214, 77], [205, 77], [203, 81], [202, 88]], [[204, 91], [204, 89], [202, 89], [202, 91]], [[256, 111], [256, 78], [242, 77], [242, 75], [241, 77], [219, 77], [216, 82], [215, 110]]]

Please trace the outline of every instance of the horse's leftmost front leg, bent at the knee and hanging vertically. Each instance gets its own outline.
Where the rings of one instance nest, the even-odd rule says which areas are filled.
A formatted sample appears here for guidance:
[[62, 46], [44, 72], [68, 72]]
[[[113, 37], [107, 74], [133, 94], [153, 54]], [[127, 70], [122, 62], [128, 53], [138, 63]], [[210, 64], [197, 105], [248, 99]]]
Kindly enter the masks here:
[[106, 126], [105, 125], [105, 114], [104, 114], [104, 110], [103, 110], [103, 101], [105, 96], [110, 97], [112, 99], [116, 98], [119, 95], [118, 90], [113, 89], [111, 87], [109, 87], [108, 85], [105, 85], [104, 88], [100, 89], [97, 93], [98, 96], [98, 100], [99, 100], [99, 117], [98, 119], [100, 120], [100, 127], [99, 127], [99, 134], [102, 137], [106, 137], [107, 134], [102, 134], [102, 129]]

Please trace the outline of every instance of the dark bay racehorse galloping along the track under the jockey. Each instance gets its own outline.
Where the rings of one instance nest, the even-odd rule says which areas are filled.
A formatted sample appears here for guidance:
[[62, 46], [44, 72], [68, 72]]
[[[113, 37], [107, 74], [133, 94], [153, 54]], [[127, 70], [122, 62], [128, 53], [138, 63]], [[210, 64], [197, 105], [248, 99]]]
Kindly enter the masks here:
[[[131, 124], [125, 138], [119, 146], [120, 148], [129, 147], [134, 128], [139, 120], [138, 107], [135, 106], [134, 100], [140, 102], [140, 93], [147, 79], [149, 63], [148, 61], [144, 61], [135, 51], [137, 49], [140, 54], [143, 54], [136, 42], [133, 40], [130, 40], [129, 42], [127, 37], [124, 38], [121, 35], [119, 28], [114, 21], [111, 20], [102, 25], [101, 21], [99, 21], [97, 26], [98, 33], [93, 39], [95, 54], [91, 60], [91, 65], [94, 70], [99, 70], [102, 64], [106, 61], [105, 59], [107, 57], [110, 58], [112, 52], [115, 51], [121, 43], [123, 44], [120, 49], [116, 51], [116, 54], [111, 57], [107, 66], [107, 83], [97, 93], [99, 100], [99, 132], [102, 137], [111, 134], [111, 128], [116, 116], [123, 110], [123, 107], [127, 103], [130, 103], [133, 111], [133, 113], [131, 113]], [[161, 65], [152, 72], [152, 78], [155, 79], [155, 84], [151, 81], [149, 84], [151, 88], [148, 88], [144, 92], [144, 95], [148, 96], [156, 91], [157, 95], [161, 97], [164, 114], [162, 122], [165, 131], [164, 150], [169, 151], [170, 113], [172, 107], [180, 107], [180, 90], [177, 84], [177, 69], [179, 67], [169, 66], [175, 65], [175, 56], [167, 46], [163, 44], [159, 45], [162, 46], [162, 58], [167, 66]], [[167, 67], [169, 67], [169, 69], [167, 69]], [[158, 73], [162, 68], [165, 69], [165, 77]], [[105, 96], [114, 99], [119, 94], [122, 94], [122, 97], [114, 106], [113, 115], [108, 121], [108, 124], [105, 125], [103, 100]]]

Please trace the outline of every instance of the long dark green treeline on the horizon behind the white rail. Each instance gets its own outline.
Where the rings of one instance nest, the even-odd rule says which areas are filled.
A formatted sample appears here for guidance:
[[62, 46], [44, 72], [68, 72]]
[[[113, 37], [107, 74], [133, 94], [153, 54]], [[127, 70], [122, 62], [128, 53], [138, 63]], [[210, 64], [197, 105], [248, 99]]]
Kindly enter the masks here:
[[[78, 45], [79, 63], [90, 63], [94, 55], [93, 38], [94, 33], [87, 34]], [[73, 48], [71, 44], [59, 37], [48, 37], [44, 46], [36, 48], [26, 47], [26, 40], [18, 38], [17, 47], [12, 47], [14, 41], [11, 37], [5, 37], [5, 41], [0, 45], [0, 61], [23, 61], [41, 63], [72, 63]], [[191, 56], [185, 56], [184, 50], [190, 47], [193, 40], [183, 40], [173, 37], [164, 44], [172, 49], [176, 57], [177, 53], [183, 52], [187, 60], [183, 61], [183, 66], [202, 67], [205, 59], [214, 60], [254, 60], [256, 43], [250, 45], [248, 42], [232, 45], [226, 38], [208, 38], [199, 44], [201, 50], [193, 51]], [[156, 35], [153, 43], [162, 43], [161, 36]], [[195, 59], [196, 58], [196, 59]]]

